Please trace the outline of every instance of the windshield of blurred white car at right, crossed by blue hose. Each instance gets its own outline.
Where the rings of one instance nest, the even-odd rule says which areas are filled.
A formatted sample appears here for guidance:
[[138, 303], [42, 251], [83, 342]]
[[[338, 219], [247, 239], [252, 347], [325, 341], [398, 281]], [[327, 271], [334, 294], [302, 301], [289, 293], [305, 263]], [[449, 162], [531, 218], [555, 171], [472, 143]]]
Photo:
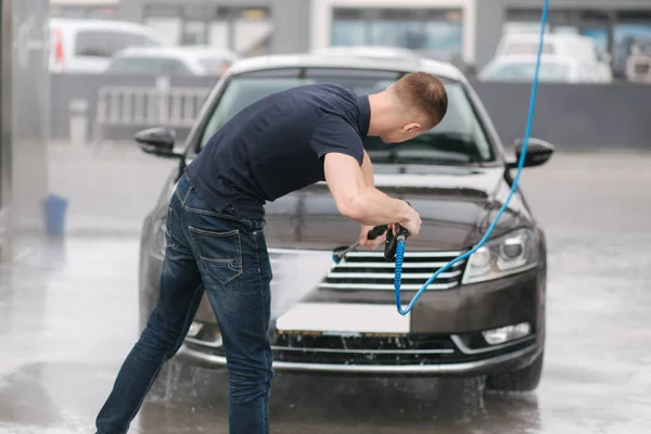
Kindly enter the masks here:
[[[498, 63], [488, 68], [485, 80], [531, 81], [536, 74], [536, 62]], [[559, 62], [540, 62], [539, 81], [565, 81], [570, 77], [570, 65]]]

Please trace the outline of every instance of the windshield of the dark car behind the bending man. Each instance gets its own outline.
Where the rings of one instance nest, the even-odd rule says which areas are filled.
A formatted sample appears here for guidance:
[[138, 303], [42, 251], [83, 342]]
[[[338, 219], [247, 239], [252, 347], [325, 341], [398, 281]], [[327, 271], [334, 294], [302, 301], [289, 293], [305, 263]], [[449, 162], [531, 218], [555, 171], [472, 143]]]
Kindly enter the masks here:
[[[321, 72], [311, 76], [307, 73], [304, 78], [255, 75], [232, 78], [206, 124], [199, 149], [203, 149], [234, 114], [266, 94], [316, 82], [336, 82], [358, 94], [370, 94], [385, 89], [398, 77], [397, 73], [355, 75]], [[446, 80], [445, 85], [448, 112], [434, 129], [403, 143], [386, 144], [375, 137], [365, 140], [363, 145], [373, 165], [469, 165], [494, 161], [493, 149], [462, 85], [451, 80]]]

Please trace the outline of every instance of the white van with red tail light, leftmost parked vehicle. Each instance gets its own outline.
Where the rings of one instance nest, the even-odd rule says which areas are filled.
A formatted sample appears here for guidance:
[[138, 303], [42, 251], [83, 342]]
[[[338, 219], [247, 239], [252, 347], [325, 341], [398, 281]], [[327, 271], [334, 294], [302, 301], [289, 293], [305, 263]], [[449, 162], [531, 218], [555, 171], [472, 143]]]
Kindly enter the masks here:
[[149, 27], [116, 20], [50, 20], [50, 72], [102, 73], [128, 47], [159, 47]]

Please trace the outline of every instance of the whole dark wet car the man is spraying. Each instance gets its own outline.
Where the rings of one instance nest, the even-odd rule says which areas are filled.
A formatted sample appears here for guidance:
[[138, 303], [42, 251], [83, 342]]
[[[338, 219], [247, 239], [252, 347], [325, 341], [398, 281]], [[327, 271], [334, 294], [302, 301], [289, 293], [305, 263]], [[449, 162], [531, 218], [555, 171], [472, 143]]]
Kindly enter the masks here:
[[[519, 154], [505, 151], [457, 68], [431, 60], [315, 54], [242, 60], [216, 85], [184, 143], [175, 144], [165, 128], [137, 137], [143, 151], [178, 159], [142, 228], [141, 326], [158, 293], [168, 200], [186, 165], [216, 130], [270, 92], [328, 81], [371, 93], [417, 69], [437, 75], [447, 87], [449, 112], [443, 123], [400, 144], [376, 138], [365, 142], [378, 188], [409, 201], [423, 220], [419, 237], [407, 241], [403, 303], [444, 264], [472, 248], [509, 192]], [[552, 152], [552, 145], [531, 139], [525, 166], [544, 164]], [[463, 375], [486, 379], [489, 388], [537, 386], [546, 334], [547, 247], [522, 191], [488, 243], [442, 275], [407, 316], [396, 311], [394, 264], [382, 252], [353, 252], [333, 263], [333, 250], [356, 241], [359, 225], [340, 215], [324, 182], [268, 203], [266, 219], [277, 371]], [[219, 327], [205, 297], [176, 360], [226, 366]]]

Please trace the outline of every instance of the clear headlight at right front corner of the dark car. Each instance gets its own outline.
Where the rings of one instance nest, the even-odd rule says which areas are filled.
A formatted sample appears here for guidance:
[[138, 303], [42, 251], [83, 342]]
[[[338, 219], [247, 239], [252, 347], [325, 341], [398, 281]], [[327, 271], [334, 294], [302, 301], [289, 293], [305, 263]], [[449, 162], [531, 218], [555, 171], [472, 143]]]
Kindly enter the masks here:
[[538, 264], [538, 248], [534, 232], [519, 229], [487, 241], [473, 253], [465, 267], [462, 283], [499, 279], [534, 268]]

